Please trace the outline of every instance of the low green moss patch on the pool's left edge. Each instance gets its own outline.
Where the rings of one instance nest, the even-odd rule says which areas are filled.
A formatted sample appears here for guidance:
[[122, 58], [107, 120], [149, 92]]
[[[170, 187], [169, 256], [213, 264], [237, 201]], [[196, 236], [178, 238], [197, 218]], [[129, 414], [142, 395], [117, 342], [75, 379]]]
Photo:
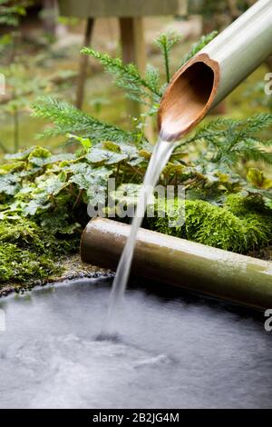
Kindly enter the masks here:
[[79, 238], [58, 238], [33, 221], [16, 219], [0, 223], [1, 283], [27, 283], [59, 273], [55, 262], [65, 253], [78, 248]]

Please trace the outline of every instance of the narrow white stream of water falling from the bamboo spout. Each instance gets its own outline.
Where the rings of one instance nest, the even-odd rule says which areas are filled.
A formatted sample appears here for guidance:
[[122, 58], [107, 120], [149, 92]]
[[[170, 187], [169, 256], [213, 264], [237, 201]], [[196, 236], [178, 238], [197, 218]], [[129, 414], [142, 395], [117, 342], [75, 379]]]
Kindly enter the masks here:
[[121, 303], [129, 279], [137, 233], [141, 227], [148, 200], [153, 193], [155, 185], [159, 181], [161, 171], [170, 159], [170, 154], [172, 153], [174, 146], [175, 143], [173, 141], [167, 141], [165, 138], [163, 139], [163, 135], [160, 134], [159, 140], [151, 155], [151, 160], [141, 187], [136, 212], [131, 223], [131, 232], [121, 253], [121, 259], [112, 284], [109, 310], [102, 331], [102, 337], [112, 335], [112, 325], [114, 325], [113, 314], [116, 313]]

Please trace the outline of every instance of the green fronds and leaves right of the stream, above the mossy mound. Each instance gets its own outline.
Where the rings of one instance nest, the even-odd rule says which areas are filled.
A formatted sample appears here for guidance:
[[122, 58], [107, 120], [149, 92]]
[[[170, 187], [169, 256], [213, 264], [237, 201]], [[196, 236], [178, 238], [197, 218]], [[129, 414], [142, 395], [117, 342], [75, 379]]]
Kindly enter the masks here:
[[[223, 185], [228, 192], [244, 189], [249, 194], [258, 192], [271, 198], [271, 182], [263, 173], [266, 186], [259, 185], [251, 174], [243, 171], [248, 162], [272, 164], [270, 147], [272, 140], [266, 130], [271, 129], [272, 114], [256, 114], [248, 119], [219, 118], [199, 128], [185, 144], [199, 146], [199, 158], [195, 159], [200, 174], [213, 181], [213, 187]], [[239, 172], [242, 173], [239, 173]]]

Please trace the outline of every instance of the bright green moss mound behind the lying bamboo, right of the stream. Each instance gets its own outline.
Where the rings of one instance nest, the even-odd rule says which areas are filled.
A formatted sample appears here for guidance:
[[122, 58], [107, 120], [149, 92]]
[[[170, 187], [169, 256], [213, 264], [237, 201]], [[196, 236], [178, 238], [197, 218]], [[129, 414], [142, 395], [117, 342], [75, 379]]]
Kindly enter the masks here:
[[[247, 207], [248, 206], [248, 207]], [[153, 229], [236, 253], [248, 253], [272, 243], [271, 215], [254, 212], [248, 201], [228, 199], [219, 207], [202, 200], [185, 201], [186, 221], [169, 227], [169, 218], [157, 218]]]

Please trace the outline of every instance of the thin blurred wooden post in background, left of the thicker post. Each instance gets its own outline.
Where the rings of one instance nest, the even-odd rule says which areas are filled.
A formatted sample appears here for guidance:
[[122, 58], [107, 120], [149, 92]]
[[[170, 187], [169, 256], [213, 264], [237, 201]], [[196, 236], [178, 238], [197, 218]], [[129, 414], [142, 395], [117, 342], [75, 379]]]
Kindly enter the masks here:
[[[84, 46], [89, 46], [91, 44], [93, 24], [94, 24], [94, 19], [88, 18], [87, 24], [86, 24], [85, 36], [84, 36]], [[78, 76], [78, 83], [77, 83], [77, 90], [76, 90], [76, 101], [75, 101], [75, 106], [77, 108], [82, 108], [83, 106], [88, 59], [89, 58], [87, 55], [81, 55], [81, 62], [80, 62], [79, 76]]]

